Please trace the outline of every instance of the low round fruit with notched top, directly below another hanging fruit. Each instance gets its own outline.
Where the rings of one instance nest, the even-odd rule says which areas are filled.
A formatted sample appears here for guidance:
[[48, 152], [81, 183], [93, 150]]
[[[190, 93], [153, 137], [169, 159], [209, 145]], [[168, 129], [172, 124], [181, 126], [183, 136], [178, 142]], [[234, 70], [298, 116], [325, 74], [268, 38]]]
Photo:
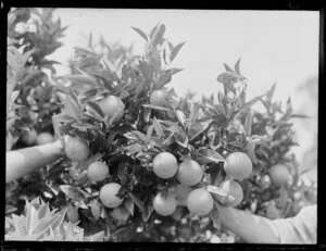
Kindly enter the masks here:
[[159, 192], [153, 200], [154, 211], [162, 215], [167, 216], [174, 213], [176, 210], [176, 200], [174, 196], [168, 194], [166, 198]]

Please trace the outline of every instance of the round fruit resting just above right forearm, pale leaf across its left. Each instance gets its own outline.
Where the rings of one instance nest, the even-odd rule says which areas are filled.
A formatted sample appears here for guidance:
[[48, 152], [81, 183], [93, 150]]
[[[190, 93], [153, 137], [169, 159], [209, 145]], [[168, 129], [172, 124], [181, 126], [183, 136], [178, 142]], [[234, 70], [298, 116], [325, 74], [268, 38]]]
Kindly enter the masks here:
[[237, 206], [243, 200], [243, 190], [240, 184], [233, 179], [224, 180], [220, 188], [227, 192], [228, 196], [234, 197], [233, 201], [225, 201], [226, 206]]

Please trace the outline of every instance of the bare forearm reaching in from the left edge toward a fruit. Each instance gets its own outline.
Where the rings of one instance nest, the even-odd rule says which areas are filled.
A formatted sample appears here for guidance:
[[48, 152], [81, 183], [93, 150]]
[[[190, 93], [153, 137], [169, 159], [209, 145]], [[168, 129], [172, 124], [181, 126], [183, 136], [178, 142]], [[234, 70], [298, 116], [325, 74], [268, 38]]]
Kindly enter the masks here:
[[10, 151], [5, 154], [5, 183], [13, 181], [62, 155], [60, 140], [42, 146]]

